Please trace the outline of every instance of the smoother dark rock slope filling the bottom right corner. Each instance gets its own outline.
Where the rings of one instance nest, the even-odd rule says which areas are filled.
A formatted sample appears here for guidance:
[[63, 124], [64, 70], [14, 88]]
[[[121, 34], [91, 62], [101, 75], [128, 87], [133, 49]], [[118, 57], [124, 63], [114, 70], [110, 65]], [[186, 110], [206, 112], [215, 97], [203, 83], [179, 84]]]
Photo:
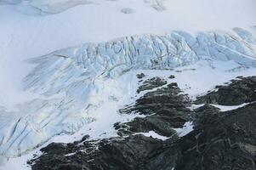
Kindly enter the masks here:
[[208, 116], [179, 140], [177, 170], [256, 169], [256, 104]]

